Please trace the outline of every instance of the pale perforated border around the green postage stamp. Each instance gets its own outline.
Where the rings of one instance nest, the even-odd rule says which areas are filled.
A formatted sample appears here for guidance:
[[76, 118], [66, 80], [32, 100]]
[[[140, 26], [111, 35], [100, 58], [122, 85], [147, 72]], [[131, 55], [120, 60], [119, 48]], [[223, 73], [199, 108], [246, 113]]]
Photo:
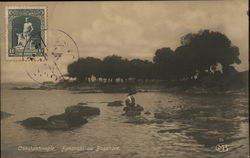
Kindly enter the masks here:
[[[9, 36], [9, 31], [8, 31], [8, 25], [9, 25], [9, 20], [8, 20], [8, 10], [9, 9], [43, 9], [44, 10], [44, 43], [46, 46], [48, 46], [48, 40], [47, 40], [47, 31], [48, 30], [48, 6], [5, 6], [5, 59], [6, 61], [28, 61], [26, 57], [9, 57], [8, 56], [8, 36]], [[44, 54], [47, 53], [47, 49], [44, 49]], [[33, 61], [44, 61], [44, 56], [43, 57], [34, 57], [36, 59], [42, 59], [42, 60], [33, 60]]]

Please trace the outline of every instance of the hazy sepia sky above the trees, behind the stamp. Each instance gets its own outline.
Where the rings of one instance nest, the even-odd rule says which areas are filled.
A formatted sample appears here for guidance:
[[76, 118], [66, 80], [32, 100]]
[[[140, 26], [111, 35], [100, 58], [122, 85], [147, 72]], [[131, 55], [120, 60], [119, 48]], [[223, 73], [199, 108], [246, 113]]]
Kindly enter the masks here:
[[[1, 7], [13, 4], [1, 3]], [[69, 34], [79, 47], [80, 57], [117, 54], [151, 60], [159, 48], [175, 50], [185, 34], [209, 29], [224, 33], [239, 47], [242, 63], [235, 67], [238, 71], [248, 70], [247, 0], [15, 2], [15, 6], [27, 4], [48, 6], [48, 30], [60, 29]], [[3, 26], [1, 33], [5, 33]], [[48, 41], [52, 39], [48, 36]], [[0, 42], [1, 81], [31, 81], [25, 71], [32, 71], [29, 68], [34, 63], [6, 61], [6, 41], [1, 37]]]

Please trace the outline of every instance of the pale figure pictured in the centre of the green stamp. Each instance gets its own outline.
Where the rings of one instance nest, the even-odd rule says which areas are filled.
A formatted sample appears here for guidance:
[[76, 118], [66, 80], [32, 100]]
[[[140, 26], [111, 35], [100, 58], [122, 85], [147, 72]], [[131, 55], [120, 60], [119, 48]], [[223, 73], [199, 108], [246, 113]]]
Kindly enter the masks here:
[[[31, 32], [34, 30], [32, 23], [29, 21], [29, 18], [25, 18], [25, 23], [23, 25], [23, 32], [17, 33], [17, 46], [16, 48], [23, 49], [26, 45], [26, 49], [31, 49], [31, 43], [30, 40]], [[28, 42], [28, 43], [27, 43]], [[27, 43], [27, 44], [26, 44]]]

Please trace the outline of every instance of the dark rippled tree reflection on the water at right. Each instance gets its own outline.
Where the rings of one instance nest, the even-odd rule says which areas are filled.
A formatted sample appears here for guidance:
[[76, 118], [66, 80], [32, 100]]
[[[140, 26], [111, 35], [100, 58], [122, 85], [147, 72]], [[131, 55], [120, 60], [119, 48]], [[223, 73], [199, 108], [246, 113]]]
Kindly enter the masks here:
[[[188, 128], [166, 130], [165, 132], [183, 132], [204, 147], [214, 147], [219, 143], [231, 144], [243, 139], [237, 134], [240, 121], [247, 119], [247, 102], [240, 102], [234, 97], [186, 96], [185, 105], [181, 106], [172, 118]], [[198, 99], [198, 100], [197, 100]], [[168, 109], [169, 110], [169, 109]], [[168, 112], [169, 113], [169, 112]], [[164, 132], [159, 131], [159, 132]]]

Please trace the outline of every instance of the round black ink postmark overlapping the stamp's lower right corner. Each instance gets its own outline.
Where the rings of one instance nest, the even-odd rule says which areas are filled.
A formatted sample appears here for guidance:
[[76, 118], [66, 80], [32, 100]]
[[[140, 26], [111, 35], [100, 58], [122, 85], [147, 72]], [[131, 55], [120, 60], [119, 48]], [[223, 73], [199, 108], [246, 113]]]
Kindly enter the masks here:
[[[45, 40], [40, 36], [41, 44], [46, 49], [44, 56], [23, 56], [24, 61], [33, 61], [27, 63], [26, 74], [34, 82], [40, 84], [68, 80], [67, 66], [79, 58], [77, 43], [63, 30], [54, 29], [44, 31], [46, 31], [49, 39], [49, 44], [46, 45]], [[39, 46], [37, 46], [38, 49]], [[27, 50], [25, 47], [24, 53]]]

